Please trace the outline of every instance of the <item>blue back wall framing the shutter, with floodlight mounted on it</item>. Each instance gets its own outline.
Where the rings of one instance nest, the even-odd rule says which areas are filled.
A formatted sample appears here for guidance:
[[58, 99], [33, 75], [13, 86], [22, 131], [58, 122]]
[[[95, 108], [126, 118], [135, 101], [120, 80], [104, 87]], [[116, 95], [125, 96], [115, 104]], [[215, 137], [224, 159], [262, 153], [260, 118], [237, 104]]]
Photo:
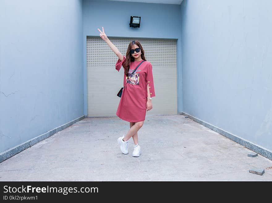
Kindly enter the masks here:
[[[141, 16], [140, 28], [133, 28], [129, 26], [130, 16], [132, 15]], [[100, 32], [98, 32], [97, 28], [102, 31], [103, 26], [108, 37], [177, 39], [177, 78], [182, 78], [180, 61], [180, 23], [180, 5], [105, 0], [83, 0], [84, 114], [87, 115], [87, 36], [99, 37]], [[116, 58], [116, 60], [117, 59], [118, 58]], [[177, 81], [179, 112], [182, 111], [181, 82], [181, 80]]]

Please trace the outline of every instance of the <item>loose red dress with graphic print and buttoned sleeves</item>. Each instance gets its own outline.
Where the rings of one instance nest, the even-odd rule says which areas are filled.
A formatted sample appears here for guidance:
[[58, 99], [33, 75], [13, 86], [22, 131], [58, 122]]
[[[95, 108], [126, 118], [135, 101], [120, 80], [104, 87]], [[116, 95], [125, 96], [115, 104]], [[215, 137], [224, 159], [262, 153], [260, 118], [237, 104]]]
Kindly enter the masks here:
[[[117, 60], [115, 69], [120, 70], [123, 65], [123, 60]], [[143, 61], [143, 60], [141, 60]], [[147, 84], [149, 86], [150, 97], [155, 96], [152, 65], [149, 61], [144, 61], [131, 76], [134, 69], [141, 61], [132, 61], [130, 63], [129, 77], [125, 75], [124, 69], [124, 89], [120, 98], [116, 115], [128, 122], [144, 121], [147, 112]], [[126, 84], [127, 82], [127, 84]], [[126, 84], [126, 85], [125, 85]]]

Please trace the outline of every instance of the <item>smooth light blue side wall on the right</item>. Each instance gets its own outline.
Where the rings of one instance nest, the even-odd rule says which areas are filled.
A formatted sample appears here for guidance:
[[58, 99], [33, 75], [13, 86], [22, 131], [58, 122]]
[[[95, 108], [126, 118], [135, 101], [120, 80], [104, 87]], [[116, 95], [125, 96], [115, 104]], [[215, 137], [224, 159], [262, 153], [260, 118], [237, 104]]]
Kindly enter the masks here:
[[272, 1], [181, 3], [183, 112], [272, 150]]

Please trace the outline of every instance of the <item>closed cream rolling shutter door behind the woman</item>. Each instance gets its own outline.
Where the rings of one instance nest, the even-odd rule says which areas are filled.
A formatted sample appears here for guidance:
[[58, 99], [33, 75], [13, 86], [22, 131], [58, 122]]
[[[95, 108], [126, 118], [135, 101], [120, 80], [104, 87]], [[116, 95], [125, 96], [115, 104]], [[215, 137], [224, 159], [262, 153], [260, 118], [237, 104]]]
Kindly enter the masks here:
[[[147, 61], [152, 64], [155, 97], [147, 115], [177, 114], [176, 40], [112, 38], [125, 55], [130, 40], [139, 40]], [[87, 37], [87, 112], [88, 117], [116, 116], [123, 87], [124, 70], [115, 70], [118, 57], [100, 37]]]

